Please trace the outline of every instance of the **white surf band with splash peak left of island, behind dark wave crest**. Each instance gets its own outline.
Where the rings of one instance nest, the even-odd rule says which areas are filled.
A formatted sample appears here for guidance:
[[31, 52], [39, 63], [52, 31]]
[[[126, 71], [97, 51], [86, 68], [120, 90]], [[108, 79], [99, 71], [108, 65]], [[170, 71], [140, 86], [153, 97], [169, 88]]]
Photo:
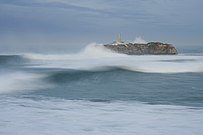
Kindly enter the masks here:
[[37, 61], [35, 68], [65, 68], [79, 70], [119, 67], [147, 73], [202, 72], [203, 56], [193, 55], [125, 55], [113, 53], [101, 45], [90, 44], [76, 54], [42, 55], [26, 54]]

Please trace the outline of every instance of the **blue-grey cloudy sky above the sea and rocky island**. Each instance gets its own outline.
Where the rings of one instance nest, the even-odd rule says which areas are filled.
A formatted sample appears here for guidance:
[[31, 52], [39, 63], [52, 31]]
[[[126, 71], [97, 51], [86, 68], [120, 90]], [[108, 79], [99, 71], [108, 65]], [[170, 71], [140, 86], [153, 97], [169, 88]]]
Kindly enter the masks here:
[[203, 48], [202, 0], [0, 0], [0, 53], [66, 53], [140, 37]]

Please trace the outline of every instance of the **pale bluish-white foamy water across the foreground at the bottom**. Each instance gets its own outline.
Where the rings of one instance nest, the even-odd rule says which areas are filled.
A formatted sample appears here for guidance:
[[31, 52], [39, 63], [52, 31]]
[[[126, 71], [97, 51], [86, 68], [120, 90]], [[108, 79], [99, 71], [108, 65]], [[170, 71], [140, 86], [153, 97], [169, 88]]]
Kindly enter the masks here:
[[[6, 104], [5, 104], [6, 103]], [[142, 103], [0, 99], [2, 135], [200, 135], [203, 110]]]

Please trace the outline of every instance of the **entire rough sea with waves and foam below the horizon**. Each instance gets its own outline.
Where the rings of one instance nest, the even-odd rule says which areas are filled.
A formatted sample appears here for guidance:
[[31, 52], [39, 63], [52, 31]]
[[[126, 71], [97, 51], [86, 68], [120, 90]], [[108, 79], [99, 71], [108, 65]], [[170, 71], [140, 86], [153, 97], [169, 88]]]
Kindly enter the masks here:
[[202, 135], [203, 55], [0, 55], [0, 135]]

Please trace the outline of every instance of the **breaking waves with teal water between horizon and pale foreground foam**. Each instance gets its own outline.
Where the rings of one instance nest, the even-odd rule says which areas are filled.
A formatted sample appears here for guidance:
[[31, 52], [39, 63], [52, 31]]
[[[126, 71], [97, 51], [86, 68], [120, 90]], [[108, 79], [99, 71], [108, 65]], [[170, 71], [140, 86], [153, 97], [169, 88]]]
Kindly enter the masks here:
[[75, 54], [1, 55], [0, 60], [1, 95], [202, 106], [201, 55], [130, 56], [91, 44]]

